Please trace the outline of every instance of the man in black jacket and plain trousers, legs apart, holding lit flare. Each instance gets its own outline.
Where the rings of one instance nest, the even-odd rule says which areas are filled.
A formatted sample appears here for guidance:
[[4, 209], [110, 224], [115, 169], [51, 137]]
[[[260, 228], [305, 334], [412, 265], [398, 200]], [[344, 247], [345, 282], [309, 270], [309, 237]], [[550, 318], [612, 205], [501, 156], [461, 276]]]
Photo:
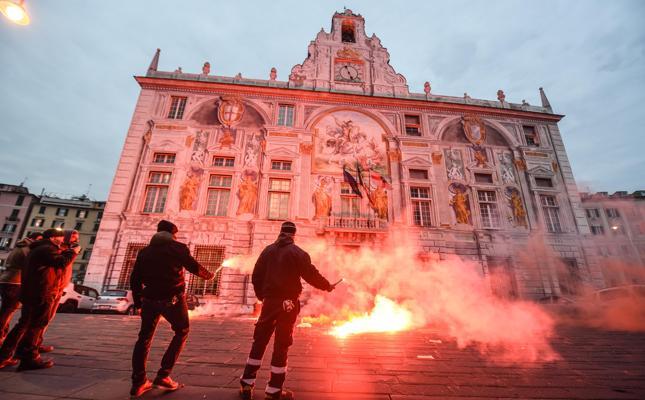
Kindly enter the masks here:
[[133, 397], [141, 396], [152, 388], [153, 383], [146, 377], [146, 359], [160, 316], [170, 323], [175, 335], [161, 360], [154, 385], [164, 390], [181, 387], [170, 378], [170, 372], [189, 331], [184, 267], [202, 279], [210, 280], [215, 276], [199, 265], [185, 244], [175, 240], [177, 232], [173, 223], [160, 221], [150, 244], [139, 251], [130, 276], [135, 307], [141, 308], [141, 330], [132, 353], [130, 395]]

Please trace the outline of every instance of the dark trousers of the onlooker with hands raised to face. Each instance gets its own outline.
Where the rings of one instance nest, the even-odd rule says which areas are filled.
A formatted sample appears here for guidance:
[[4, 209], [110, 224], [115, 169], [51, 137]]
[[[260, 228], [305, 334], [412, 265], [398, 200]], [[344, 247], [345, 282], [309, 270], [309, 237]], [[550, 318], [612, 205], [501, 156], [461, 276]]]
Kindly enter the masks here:
[[47, 325], [56, 313], [58, 296], [28, 300], [22, 304], [18, 323], [11, 329], [2, 347], [0, 359], [16, 357], [23, 361], [36, 360], [40, 357], [40, 347]]

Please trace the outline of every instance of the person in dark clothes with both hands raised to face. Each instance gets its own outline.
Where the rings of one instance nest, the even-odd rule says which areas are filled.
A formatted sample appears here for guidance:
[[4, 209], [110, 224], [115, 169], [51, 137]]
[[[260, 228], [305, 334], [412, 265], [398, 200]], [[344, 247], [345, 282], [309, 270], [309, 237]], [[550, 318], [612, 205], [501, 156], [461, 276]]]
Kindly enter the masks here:
[[12, 359], [14, 351], [20, 360], [18, 371], [54, 365], [53, 361], [40, 357], [39, 348], [58, 307], [61, 288], [65, 287], [72, 263], [81, 251], [78, 243], [69, 241], [73, 237], [71, 232], [66, 234], [60, 229], [48, 229], [43, 232], [42, 240], [29, 246], [27, 265], [21, 276], [22, 314], [0, 347], [0, 365], [15, 364]]

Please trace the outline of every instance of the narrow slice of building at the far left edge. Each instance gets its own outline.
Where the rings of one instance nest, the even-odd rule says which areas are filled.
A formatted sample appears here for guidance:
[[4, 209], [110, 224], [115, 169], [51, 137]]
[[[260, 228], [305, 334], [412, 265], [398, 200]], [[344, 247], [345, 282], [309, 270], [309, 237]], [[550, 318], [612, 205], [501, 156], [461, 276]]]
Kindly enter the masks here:
[[27, 215], [36, 196], [22, 185], [0, 183], [0, 268], [9, 253], [24, 236]]

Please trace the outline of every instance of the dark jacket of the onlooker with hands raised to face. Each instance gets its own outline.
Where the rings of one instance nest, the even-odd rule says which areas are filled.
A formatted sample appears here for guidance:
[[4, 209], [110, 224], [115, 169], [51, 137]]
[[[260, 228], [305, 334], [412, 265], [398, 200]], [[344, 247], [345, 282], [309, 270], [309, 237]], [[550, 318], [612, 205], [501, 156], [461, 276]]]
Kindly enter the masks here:
[[73, 250], [62, 250], [49, 239], [42, 239], [29, 245], [27, 265], [22, 271], [23, 303], [42, 303], [55, 298], [65, 282], [72, 263], [76, 259]]

